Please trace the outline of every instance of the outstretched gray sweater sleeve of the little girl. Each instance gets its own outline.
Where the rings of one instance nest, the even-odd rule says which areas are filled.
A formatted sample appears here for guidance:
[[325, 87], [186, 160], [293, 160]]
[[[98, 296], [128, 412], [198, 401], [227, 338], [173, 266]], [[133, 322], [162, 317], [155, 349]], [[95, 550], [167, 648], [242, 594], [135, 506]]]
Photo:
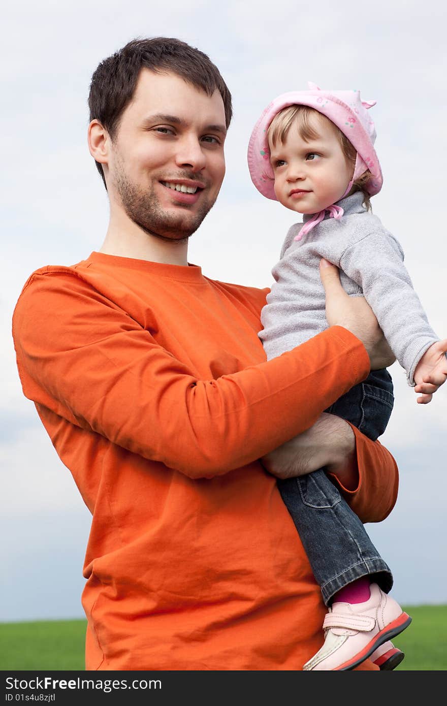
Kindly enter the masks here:
[[410, 385], [426, 350], [439, 337], [429, 325], [410, 275], [403, 264], [398, 241], [387, 231], [371, 232], [347, 247], [340, 268], [362, 287], [395, 357]]

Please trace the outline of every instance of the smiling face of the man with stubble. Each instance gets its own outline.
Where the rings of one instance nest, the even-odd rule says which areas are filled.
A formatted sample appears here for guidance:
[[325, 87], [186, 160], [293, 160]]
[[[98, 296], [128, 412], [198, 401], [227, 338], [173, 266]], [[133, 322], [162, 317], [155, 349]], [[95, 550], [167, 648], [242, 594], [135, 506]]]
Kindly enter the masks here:
[[174, 73], [144, 68], [121, 116], [107, 162], [107, 189], [145, 232], [189, 237], [213, 206], [225, 174], [225, 110]]

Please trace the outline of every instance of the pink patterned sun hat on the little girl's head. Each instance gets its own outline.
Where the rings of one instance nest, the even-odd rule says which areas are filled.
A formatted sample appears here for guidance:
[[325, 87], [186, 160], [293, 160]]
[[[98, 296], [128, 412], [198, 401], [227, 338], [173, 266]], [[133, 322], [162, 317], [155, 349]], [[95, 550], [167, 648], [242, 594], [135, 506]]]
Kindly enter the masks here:
[[379, 160], [373, 147], [376, 140], [376, 129], [368, 114], [368, 109], [375, 104], [374, 100], [360, 100], [360, 92], [357, 90], [321, 90], [310, 82], [309, 90], [282, 93], [268, 104], [251, 133], [248, 160], [251, 181], [256, 189], [261, 191], [263, 196], [277, 200], [273, 189], [274, 177], [273, 169], [270, 166], [267, 131], [275, 115], [283, 108], [289, 105], [307, 105], [326, 115], [340, 128], [357, 150], [354, 174], [345, 194], [349, 193], [352, 182], [361, 177], [366, 169], [369, 169], [372, 174], [372, 179], [366, 186], [367, 191], [370, 196], [379, 193], [383, 179]]

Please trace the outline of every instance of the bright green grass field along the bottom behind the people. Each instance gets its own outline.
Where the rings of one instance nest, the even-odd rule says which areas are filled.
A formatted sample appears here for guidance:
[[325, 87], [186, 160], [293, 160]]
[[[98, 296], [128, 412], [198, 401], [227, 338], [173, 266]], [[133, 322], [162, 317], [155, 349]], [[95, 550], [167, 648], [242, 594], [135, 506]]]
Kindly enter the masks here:
[[[447, 606], [407, 606], [413, 621], [395, 638], [400, 671], [447, 669]], [[85, 621], [0, 624], [0, 670], [84, 669]], [[398, 671], [396, 670], [396, 671]]]

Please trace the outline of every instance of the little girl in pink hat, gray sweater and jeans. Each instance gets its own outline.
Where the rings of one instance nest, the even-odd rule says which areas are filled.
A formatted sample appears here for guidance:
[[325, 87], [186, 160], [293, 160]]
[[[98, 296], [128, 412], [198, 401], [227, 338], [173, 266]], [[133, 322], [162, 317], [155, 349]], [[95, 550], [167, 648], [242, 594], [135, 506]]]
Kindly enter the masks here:
[[[261, 340], [273, 358], [327, 328], [321, 258], [340, 268], [347, 294], [373, 309], [410, 385], [427, 403], [447, 378], [447, 340], [439, 341], [412, 288], [403, 250], [370, 213], [382, 186], [376, 132], [358, 91], [289, 92], [263, 111], [248, 150], [251, 179], [267, 198], [304, 214], [292, 225], [273, 268]], [[376, 440], [393, 408], [386, 371], [371, 371], [326, 412]], [[353, 669], [371, 657], [394, 669], [403, 653], [389, 640], [411, 622], [387, 594], [391, 570], [324, 469], [278, 481], [328, 608], [323, 647], [306, 670]]]

